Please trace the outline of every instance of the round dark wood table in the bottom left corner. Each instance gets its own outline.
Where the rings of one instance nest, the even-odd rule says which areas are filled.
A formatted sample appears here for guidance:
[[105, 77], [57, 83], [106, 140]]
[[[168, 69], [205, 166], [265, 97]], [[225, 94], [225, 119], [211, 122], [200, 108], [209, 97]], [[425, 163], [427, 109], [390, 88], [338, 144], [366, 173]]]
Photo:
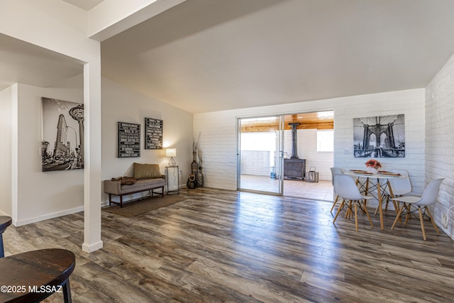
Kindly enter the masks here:
[[32, 250], [0, 259], [0, 302], [40, 302], [63, 292], [72, 302], [70, 275], [76, 256], [70, 250]]

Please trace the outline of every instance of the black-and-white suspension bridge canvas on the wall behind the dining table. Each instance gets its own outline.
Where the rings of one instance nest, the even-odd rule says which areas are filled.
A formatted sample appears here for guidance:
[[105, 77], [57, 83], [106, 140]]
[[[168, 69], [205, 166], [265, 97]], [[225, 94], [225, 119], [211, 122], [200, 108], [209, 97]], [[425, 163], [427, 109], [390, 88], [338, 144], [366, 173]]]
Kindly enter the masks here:
[[404, 158], [404, 114], [353, 119], [355, 158]]

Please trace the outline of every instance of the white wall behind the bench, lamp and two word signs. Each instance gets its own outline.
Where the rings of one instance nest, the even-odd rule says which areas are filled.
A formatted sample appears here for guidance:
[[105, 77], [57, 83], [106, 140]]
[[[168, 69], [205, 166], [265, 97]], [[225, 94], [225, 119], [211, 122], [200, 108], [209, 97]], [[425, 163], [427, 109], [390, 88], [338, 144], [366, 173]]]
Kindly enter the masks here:
[[[164, 149], [144, 149], [145, 117], [163, 121]], [[140, 158], [117, 158], [117, 122], [140, 124]], [[132, 176], [133, 162], [159, 164], [161, 172], [165, 173], [165, 166], [169, 162], [169, 158], [165, 156], [165, 148], [169, 147], [177, 148], [177, 156], [174, 158], [179, 165], [179, 170], [182, 170], [179, 182], [186, 184], [192, 162], [192, 122], [193, 115], [187, 111], [133, 92], [116, 82], [103, 78], [102, 180]], [[104, 194], [103, 201], [108, 200], [108, 195]]]

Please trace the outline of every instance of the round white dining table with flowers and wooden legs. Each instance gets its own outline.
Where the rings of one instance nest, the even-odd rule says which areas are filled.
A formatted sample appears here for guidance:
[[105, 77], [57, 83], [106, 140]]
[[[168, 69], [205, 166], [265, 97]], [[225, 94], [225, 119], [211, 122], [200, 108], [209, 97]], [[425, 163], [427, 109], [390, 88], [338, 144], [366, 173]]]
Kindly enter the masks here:
[[[406, 178], [406, 176], [387, 170], [378, 170], [377, 173], [368, 172], [367, 170], [345, 170], [344, 174], [356, 178], [356, 183], [358, 184], [360, 192], [364, 192], [365, 195], [371, 194], [372, 197], [375, 197], [375, 199], [377, 199], [378, 210], [380, 213], [380, 228], [383, 230], [383, 197], [385, 195], [389, 195], [390, 198], [394, 198], [389, 180]], [[377, 192], [377, 194], [375, 194], [375, 191]], [[396, 205], [394, 205], [394, 209], [395, 208]]]

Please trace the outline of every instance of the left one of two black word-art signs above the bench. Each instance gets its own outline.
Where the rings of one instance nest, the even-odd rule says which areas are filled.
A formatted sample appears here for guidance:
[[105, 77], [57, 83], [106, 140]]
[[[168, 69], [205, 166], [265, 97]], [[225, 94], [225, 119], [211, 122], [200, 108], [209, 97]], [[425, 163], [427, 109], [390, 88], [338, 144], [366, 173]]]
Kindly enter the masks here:
[[140, 124], [118, 122], [118, 158], [140, 157]]

